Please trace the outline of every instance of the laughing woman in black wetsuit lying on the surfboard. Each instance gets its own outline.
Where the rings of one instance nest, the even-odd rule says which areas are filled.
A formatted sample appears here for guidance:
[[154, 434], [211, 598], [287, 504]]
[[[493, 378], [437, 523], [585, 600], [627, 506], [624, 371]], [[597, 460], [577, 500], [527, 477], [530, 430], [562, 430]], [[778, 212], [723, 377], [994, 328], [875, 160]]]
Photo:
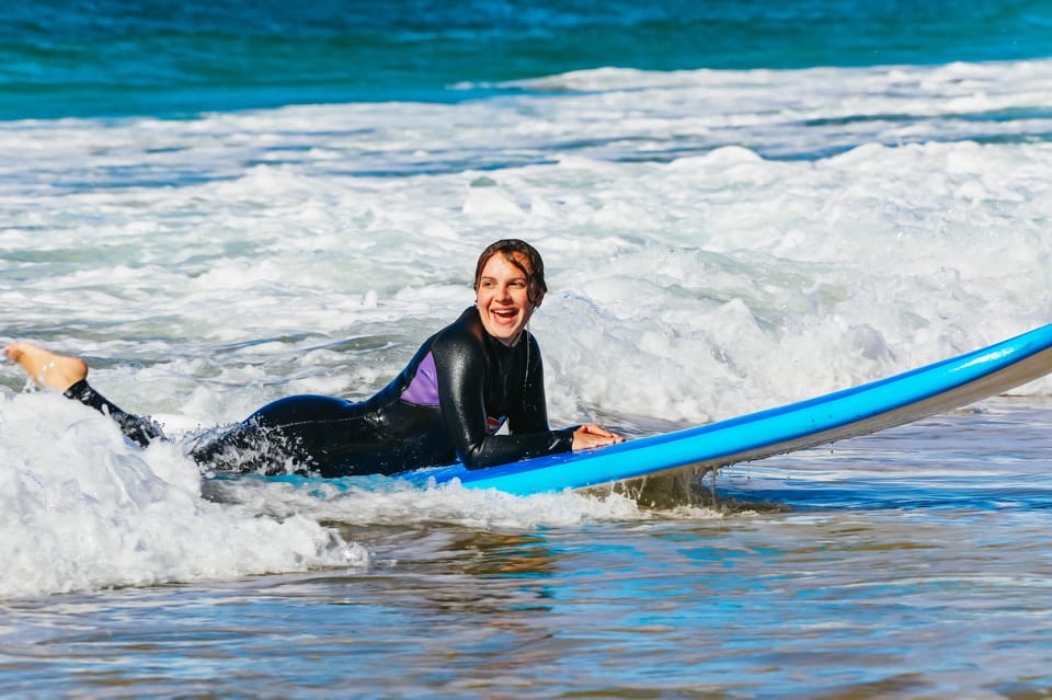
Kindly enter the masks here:
[[[548, 426], [544, 366], [526, 330], [547, 285], [540, 254], [516, 239], [479, 256], [476, 305], [431, 336], [386, 388], [361, 403], [294, 395], [224, 431], [196, 435], [191, 455], [210, 468], [395, 474], [457, 459], [469, 469], [622, 441], [598, 425]], [[4, 353], [39, 385], [112, 416], [128, 439], [163, 439], [88, 385], [88, 366], [30, 343]], [[507, 424], [507, 434], [498, 435]]]

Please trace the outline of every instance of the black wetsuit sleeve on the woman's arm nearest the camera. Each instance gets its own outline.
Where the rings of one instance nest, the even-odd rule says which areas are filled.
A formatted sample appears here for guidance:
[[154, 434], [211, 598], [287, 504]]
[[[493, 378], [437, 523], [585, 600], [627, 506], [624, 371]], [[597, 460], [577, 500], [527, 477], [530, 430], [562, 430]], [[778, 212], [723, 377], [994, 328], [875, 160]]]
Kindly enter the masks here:
[[[569, 451], [572, 431], [547, 429], [490, 435], [485, 429], [485, 349], [469, 333], [444, 334], [432, 346], [438, 379], [438, 403], [457, 457], [468, 469]], [[541, 389], [541, 391], [544, 391]], [[539, 425], [537, 427], [540, 427]]]

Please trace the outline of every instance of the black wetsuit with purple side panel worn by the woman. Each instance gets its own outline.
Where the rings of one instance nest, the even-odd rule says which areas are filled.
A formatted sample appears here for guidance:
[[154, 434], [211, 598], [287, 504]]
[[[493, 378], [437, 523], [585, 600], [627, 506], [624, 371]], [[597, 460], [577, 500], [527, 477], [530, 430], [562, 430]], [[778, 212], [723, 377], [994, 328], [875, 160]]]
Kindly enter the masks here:
[[[149, 418], [121, 411], [87, 382], [66, 394], [111, 415], [132, 440], [162, 437]], [[507, 422], [508, 435], [495, 435]], [[361, 403], [296, 395], [270, 403], [192, 449], [210, 467], [310, 470], [323, 477], [393, 474], [459, 458], [469, 469], [571, 449], [573, 428], [551, 431], [544, 366], [529, 332], [506, 347], [478, 309], [430, 337], [398, 377]]]

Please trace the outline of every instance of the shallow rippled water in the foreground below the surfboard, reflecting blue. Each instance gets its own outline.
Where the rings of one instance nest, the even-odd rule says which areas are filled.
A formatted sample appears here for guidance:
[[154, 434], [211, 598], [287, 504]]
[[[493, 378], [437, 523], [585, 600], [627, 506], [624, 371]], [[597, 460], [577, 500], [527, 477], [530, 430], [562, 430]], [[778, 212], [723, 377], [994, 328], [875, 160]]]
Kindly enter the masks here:
[[537, 504], [549, 524], [482, 524], [447, 493], [408, 521], [393, 498], [338, 525], [367, 567], [9, 601], [0, 689], [1042, 697], [1050, 422], [993, 402], [734, 467], [700, 481], [706, 505], [656, 512], [565, 494]]

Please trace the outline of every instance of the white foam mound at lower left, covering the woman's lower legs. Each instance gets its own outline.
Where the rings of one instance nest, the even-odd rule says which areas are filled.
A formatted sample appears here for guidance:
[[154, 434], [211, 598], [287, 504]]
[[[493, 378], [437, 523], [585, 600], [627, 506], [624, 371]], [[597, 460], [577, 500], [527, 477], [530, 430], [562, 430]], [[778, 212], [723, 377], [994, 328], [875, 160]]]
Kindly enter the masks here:
[[173, 445], [139, 450], [58, 395], [0, 394], [0, 598], [368, 562], [312, 519], [238, 514], [199, 487]]

